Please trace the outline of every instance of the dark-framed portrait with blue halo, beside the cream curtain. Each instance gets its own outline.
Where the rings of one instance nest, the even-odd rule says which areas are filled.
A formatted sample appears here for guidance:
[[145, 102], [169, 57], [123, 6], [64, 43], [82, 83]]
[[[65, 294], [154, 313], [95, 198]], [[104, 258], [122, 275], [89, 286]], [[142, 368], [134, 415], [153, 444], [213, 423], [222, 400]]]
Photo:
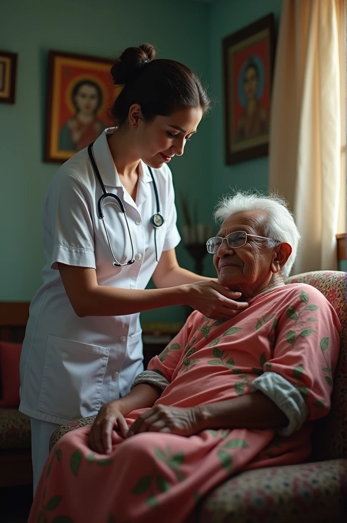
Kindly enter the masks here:
[[223, 40], [227, 164], [268, 154], [274, 47], [273, 14]]

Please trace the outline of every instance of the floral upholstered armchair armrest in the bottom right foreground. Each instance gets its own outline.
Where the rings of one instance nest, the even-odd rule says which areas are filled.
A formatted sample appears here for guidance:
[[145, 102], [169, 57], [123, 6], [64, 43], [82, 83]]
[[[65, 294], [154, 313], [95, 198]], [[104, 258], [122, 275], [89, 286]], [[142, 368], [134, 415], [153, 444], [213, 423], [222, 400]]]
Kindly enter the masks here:
[[250, 470], [210, 494], [199, 523], [345, 523], [346, 460]]

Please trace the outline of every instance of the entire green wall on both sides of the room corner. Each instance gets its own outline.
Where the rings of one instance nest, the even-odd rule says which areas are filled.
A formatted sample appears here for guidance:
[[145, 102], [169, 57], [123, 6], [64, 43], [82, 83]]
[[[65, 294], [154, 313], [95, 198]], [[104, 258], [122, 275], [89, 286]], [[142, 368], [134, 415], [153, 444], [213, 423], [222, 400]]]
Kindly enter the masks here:
[[[211, 223], [211, 209], [229, 186], [267, 186], [267, 158], [224, 165], [222, 38], [273, 12], [282, 0], [12, 0], [2, 8], [0, 49], [19, 53], [17, 102], [0, 104], [0, 300], [30, 300], [41, 284], [42, 199], [57, 164], [44, 163], [45, 92], [50, 49], [112, 58], [129, 45], [154, 43], [160, 56], [191, 66], [219, 104], [171, 164], [177, 192], [192, 204], [199, 201], [199, 219]], [[182, 224], [180, 204], [178, 225]], [[182, 266], [192, 260], [177, 249]], [[214, 275], [212, 256], [205, 274]], [[180, 321], [177, 308], [151, 311], [147, 321]]]

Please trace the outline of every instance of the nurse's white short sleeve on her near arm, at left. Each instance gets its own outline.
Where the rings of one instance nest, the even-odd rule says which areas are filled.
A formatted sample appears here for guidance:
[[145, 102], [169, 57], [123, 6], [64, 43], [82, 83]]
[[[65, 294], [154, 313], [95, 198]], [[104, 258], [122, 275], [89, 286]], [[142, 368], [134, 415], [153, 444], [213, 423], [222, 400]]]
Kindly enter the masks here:
[[96, 268], [91, 199], [82, 181], [61, 173], [45, 201], [45, 214], [53, 238], [51, 268], [57, 261], [77, 267]]

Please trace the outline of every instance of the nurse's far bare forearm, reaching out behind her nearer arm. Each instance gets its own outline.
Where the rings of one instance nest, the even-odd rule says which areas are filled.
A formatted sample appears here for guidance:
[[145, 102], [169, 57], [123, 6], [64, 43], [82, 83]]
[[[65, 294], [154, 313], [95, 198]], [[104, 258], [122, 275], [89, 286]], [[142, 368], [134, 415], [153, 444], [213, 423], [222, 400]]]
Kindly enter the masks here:
[[164, 287], [175, 287], [176, 285], [183, 285], [184, 283], [194, 283], [195, 281], [214, 280], [217, 278], [209, 278], [183, 269], [178, 265], [175, 249], [163, 251], [161, 253], [159, 263], [154, 271], [152, 280], [157, 289]]

